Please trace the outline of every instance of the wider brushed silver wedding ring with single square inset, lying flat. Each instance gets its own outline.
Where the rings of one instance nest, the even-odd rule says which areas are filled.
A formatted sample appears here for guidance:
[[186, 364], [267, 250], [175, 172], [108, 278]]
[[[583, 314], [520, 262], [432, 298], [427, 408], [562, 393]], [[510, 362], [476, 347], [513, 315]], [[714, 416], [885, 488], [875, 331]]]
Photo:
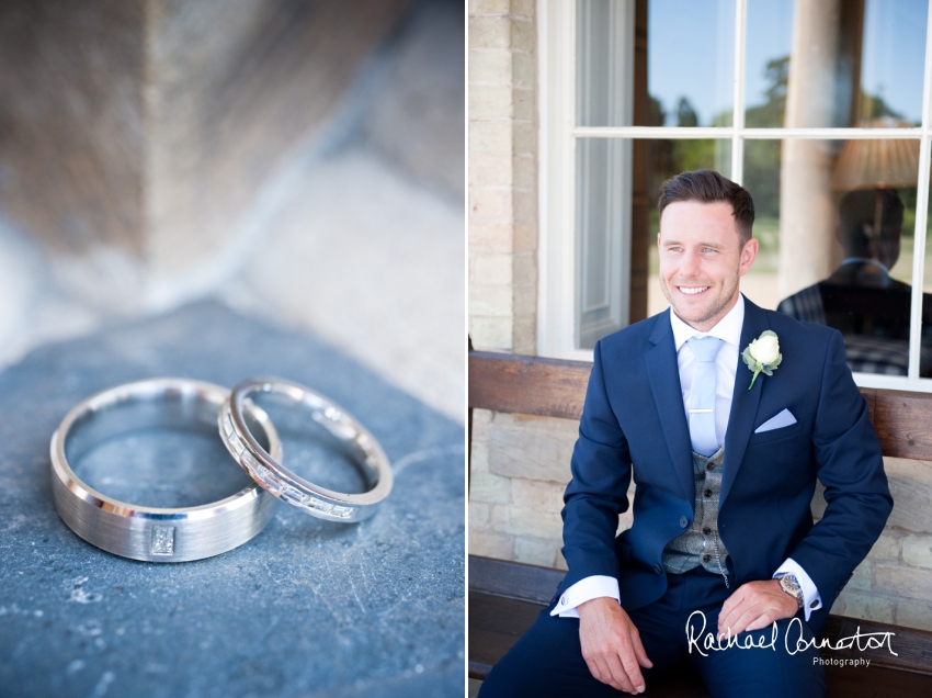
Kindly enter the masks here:
[[[209, 558], [259, 533], [276, 502], [254, 483], [213, 504], [169, 509], [107, 497], [84, 484], [69, 464], [106, 439], [143, 428], [194, 426], [215, 434], [217, 413], [228, 395], [227, 389], [212, 383], [150, 379], [111, 387], [72, 408], [50, 444], [55, 508], [68, 528], [107, 552], [149, 562]], [[279, 435], [265, 413], [251, 406], [243, 420], [281, 458]]]

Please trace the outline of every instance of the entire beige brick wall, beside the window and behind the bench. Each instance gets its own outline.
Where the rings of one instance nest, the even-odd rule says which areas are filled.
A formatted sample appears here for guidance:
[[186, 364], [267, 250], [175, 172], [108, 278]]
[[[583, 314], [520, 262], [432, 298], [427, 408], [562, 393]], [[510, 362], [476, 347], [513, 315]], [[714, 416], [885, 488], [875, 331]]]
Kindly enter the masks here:
[[[537, 116], [533, 0], [469, 1], [469, 334], [535, 353]], [[476, 410], [469, 552], [566, 568], [561, 496], [578, 423]], [[932, 463], [886, 460], [896, 506], [833, 612], [932, 630]], [[632, 493], [629, 493], [629, 498]], [[825, 502], [817, 495], [814, 510]], [[627, 515], [620, 528], [630, 525]]]

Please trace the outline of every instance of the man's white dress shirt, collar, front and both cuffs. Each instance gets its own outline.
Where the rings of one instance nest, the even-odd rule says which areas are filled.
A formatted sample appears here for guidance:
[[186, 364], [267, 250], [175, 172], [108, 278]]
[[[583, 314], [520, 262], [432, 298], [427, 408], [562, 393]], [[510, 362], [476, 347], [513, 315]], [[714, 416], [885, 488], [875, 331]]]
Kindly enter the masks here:
[[[718, 444], [725, 443], [725, 431], [728, 429], [728, 416], [731, 414], [731, 395], [735, 389], [735, 371], [738, 369], [738, 358], [741, 353], [741, 327], [745, 324], [745, 296], [738, 295], [738, 302], [728, 314], [707, 333], [701, 333], [677, 317], [670, 308], [670, 325], [673, 328], [673, 342], [677, 348], [677, 363], [680, 369], [680, 387], [683, 391], [683, 413], [689, 423], [690, 389], [693, 383], [693, 371], [696, 359], [686, 341], [693, 337], [717, 337], [725, 342], [715, 359], [715, 436]], [[686, 349], [683, 349], [686, 346]], [[822, 599], [812, 579], [792, 558], [776, 568], [773, 576], [783, 573], [793, 574], [803, 588], [803, 608], [806, 620], [814, 610], [822, 607]], [[593, 598], [621, 598], [618, 581], [606, 575], [592, 575], [580, 579], [560, 596], [559, 601], [550, 611], [550, 616], [560, 618], [579, 618], [577, 606]]]

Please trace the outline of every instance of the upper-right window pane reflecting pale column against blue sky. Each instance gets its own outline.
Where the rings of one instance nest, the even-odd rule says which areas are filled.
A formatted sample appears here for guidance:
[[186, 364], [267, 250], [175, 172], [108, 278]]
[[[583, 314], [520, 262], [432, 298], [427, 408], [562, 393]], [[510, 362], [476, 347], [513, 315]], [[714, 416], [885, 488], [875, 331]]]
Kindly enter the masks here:
[[748, 0], [746, 125], [922, 120], [924, 0]]

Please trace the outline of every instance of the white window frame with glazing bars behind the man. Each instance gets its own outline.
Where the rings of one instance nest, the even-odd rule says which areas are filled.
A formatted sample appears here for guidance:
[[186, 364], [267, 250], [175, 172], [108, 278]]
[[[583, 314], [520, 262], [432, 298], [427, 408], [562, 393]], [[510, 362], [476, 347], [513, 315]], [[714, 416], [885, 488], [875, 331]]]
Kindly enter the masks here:
[[577, 349], [576, 292], [576, 142], [578, 138], [730, 138], [731, 179], [743, 180], [745, 142], [805, 138], [819, 140], [894, 139], [920, 142], [916, 230], [912, 259], [912, 306], [909, 372], [906, 376], [854, 373], [862, 387], [932, 392], [932, 379], [919, 378], [925, 222], [929, 212], [930, 144], [932, 144], [932, 0], [927, 12], [922, 123], [916, 128], [746, 128], [745, 40], [747, 0], [735, 0], [734, 119], [728, 127], [580, 127], [576, 125], [576, 2], [537, 0], [539, 85], [539, 228], [537, 353], [592, 361], [592, 351]]

